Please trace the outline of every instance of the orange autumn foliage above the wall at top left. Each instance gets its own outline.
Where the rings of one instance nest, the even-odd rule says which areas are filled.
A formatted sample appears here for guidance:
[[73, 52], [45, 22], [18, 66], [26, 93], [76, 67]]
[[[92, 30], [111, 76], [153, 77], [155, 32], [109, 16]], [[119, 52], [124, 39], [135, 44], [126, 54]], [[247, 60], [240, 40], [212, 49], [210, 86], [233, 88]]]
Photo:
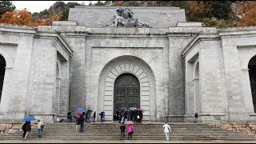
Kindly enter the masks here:
[[2, 14], [0, 22], [26, 26], [46, 25], [46, 21], [41, 18], [38, 18], [32, 22], [32, 15], [26, 9], [6, 12], [5, 14]]

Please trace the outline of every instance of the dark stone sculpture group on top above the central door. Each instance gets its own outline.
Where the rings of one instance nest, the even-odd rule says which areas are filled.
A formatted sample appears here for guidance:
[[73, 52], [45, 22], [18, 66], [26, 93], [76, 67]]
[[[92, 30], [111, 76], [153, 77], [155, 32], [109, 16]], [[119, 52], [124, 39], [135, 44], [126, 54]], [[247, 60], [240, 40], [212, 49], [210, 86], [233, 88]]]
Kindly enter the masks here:
[[114, 15], [109, 26], [120, 27], [151, 27], [145, 23], [138, 22], [138, 18], [134, 17], [134, 13], [129, 8], [118, 7], [118, 16]]

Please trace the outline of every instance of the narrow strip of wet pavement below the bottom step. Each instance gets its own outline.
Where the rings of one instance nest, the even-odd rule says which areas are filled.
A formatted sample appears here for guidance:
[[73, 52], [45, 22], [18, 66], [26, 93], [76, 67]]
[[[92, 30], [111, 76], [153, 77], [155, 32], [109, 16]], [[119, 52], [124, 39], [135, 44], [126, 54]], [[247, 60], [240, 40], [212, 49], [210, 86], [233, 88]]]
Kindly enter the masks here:
[[0, 143], [255, 143], [256, 141], [225, 141], [225, 140], [56, 140], [56, 139], [26, 139], [0, 140]]

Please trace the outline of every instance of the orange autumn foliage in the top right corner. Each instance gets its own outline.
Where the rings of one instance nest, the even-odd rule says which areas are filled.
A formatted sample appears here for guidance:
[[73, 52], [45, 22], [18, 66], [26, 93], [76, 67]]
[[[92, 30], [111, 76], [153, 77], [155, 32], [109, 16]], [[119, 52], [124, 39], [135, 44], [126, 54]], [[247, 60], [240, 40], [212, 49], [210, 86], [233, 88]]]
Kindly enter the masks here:
[[242, 19], [238, 22], [238, 26], [256, 26], [256, 2], [241, 2], [238, 6], [238, 14]]

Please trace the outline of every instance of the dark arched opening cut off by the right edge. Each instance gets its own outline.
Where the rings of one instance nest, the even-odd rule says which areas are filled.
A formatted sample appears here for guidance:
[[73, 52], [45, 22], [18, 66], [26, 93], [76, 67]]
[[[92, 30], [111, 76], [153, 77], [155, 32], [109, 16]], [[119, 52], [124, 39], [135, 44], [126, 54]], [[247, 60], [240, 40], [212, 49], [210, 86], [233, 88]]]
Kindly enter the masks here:
[[256, 113], [256, 56], [250, 59], [248, 64], [249, 75], [250, 75], [250, 89], [254, 103], [254, 113]]

